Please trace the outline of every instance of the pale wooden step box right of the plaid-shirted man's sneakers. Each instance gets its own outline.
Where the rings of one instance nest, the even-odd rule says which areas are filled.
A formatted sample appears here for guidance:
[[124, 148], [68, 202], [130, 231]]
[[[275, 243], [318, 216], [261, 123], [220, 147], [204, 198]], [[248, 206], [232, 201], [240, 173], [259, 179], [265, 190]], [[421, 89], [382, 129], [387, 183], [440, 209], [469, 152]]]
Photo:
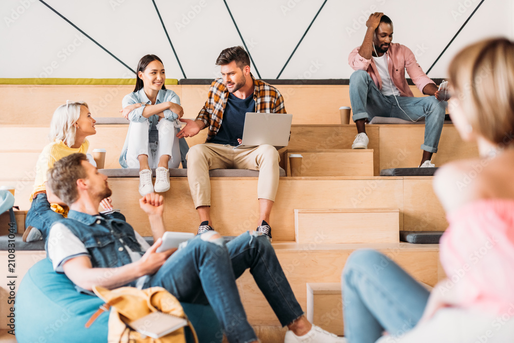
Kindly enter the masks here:
[[398, 243], [398, 208], [295, 209], [297, 243]]

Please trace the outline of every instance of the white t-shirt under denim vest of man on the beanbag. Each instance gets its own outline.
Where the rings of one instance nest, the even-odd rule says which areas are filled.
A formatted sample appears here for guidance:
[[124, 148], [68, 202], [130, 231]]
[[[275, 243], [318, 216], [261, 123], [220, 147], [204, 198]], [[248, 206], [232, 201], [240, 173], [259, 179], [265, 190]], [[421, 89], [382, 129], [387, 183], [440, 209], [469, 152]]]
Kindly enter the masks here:
[[[100, 216], [98, 218], [102, 219]], [[148, 244], [139, 233], [134, 231], [134, 234], [137, 242], [141, 245], [141, 251], [146, 251], [150, 248], [150, 244]], [[124, 246], [128, 255], [131, 257], [132, 262], [136, 262], [141, 259], [139, 252], [132, 251], [127, 245]], [[64, 273], [64, 263], [79, 256], [89, 256], [89, 252], [87, 252], [84, 243], [82, 243], [82, 241], [64, 224], [54, 224], [48, 234], [48, 257], [50, 258], [50, 261], [52, 261], [53, 270], [57, 273]], [[138, 288], [142, 287], [146, 278], [147, 276], [145, 275], [137, 279], [136, 285]]]

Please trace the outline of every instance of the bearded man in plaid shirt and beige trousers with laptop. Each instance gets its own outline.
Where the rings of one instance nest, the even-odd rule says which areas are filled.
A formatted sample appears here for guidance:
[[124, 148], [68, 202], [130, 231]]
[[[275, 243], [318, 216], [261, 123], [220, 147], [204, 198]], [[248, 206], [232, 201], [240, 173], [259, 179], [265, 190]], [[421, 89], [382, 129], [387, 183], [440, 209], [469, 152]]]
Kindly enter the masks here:
[[187, 155], [188, 180], [200, 216], [198, 233], [213, 230], [210, 218], [211, 169], [259, 170], [257, 195], [260, 218], [257, 231], [271, 239], [269, 214], [279, 185], [279, 154], [270, 145], [232, 149], [241, 144], [247, 112], [286, 113], [277, 88], [256, 80], [250, 73], [250, 58], [241, 46], [223, 50], [216, 65], [222, 78], [212, 82], [208, 99], [195, 120], [180, 119], [186, 126], [177, 137], [192, 137], [209, 128], [207, 141], [193, 146]]

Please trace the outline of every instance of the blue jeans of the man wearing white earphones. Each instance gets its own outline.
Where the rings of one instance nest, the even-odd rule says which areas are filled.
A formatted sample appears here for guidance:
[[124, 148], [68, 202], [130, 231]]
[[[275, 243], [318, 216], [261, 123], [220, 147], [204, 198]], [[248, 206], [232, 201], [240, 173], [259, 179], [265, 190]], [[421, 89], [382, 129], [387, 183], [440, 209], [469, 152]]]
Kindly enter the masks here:
[[445, 121], [447, 102], [439, 101], [434, 96], [422, 98], [398, 96], [396, 100], [392, 95], [382, 95], [365, 70], [356, 70], [350, 76], [350, 102], [354, 121], [371, 120], [377, 116], [408, 121], [417, 121], [419, 118], [425, 117], [425, 142], [421, 145], [421, 149], [437, 152]]

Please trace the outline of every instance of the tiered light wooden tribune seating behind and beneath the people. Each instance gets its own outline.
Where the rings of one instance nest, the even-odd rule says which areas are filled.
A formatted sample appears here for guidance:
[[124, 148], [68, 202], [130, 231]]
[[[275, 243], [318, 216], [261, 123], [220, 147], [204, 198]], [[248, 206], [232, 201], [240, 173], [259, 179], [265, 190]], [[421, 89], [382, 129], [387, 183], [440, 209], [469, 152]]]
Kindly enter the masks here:
[[[196, 116], [205, 102], [208, 87], [206, 84], [168, 86], [180, 96], [186, 118]], [[85, 100], [94, 117], [115, 117], [119, 115], [122, 97], [133, 90], [132, 85], [0, 85], [0, 88], [3, 106], [0, 157], [8, 166], [0, 170], [0, 185], [15, 186], [16, 205], [25, 211], [30, 206], [28, 196], [34, 181], [35, 160], [47, 143], [54, 109], [65, 99]], [[288, 147], [279, 151], [281, 166], [290, 175], [288, 154], [302, 153], [305, 169], [301, 177], [280, 179], [271, 213], [273, 247], [302, 308], [309, 311], [307, 284], [314, 290], [314, 283], [338, 283], [346, 258], [363, 247], [379, 249], [417, 280], [435, 285], [444, 277], [437, 262], [438, 245], [398, 240], [399, 230], [446, 228], [443, 208], [432, 191], [432, 177], [378, 176], [381, 169], [419, 164], [424, 125], [369, 125], [370, 150], [352, 151], [357, 134], [355, 125], [341, 125], [338, 111], [341, 105], [350, 105], [347, 85], [296, 82], [278, 88], [284, 95], [288, 113], [293, 114], [291, 140]], [[413, 92], [419, 96], [416, 88]], [[28, 116], [30, 120], [24, 120]], [[119, 168], [118, 157], [126, 130], [126, 124], [98, 124], [97, 134], [89, 137], [91, 150], [107, 149], [106, 168]], [[188, 143], [190, 146], [201, 143], [206, 134], [204, 130], [189, 138]], [[437, 166], [476, 155], [476, 147], [462, 142], [452, 124], [444, 125], [439, 152], [433, 159]], [[352, 161], [361, 165], [356, 166]], [[255, 229], [259, 217], [256, 183], [256, 177], [211, 179], [211, 213], [216, 230], [233, 236]], [[125, 213], [127, 221], [139, 233], [149, 236], [148, 218], [137, 205], [138, 179], [113, 177], [109, 178], [109, 184], [115, 207]], [[171, 189], [163, 195], [167, 203], [164, 213], [167, 229], [195, 232], [199, 220], [187, 178], [172, 177]], [[24, 212], [18, 215], [23, 221]], [[19, 251], [19, 281], [33, 263], [44, 257], [44, 251]], [[0, 251], [0, 259], [7, 259], [6, 251]], [[243, 275], [238, 285], [250, 322], [257, 327], [276, 328], [273, 330], [283, 334], [251, 275]], [[2, 286], [1, 301], [5, 301], [6, 292]], [[4, 303], [0, 309], [0, 330], [3, 330], [7, 328]], [[333, 331], [342, 332], [336, 329]]]

